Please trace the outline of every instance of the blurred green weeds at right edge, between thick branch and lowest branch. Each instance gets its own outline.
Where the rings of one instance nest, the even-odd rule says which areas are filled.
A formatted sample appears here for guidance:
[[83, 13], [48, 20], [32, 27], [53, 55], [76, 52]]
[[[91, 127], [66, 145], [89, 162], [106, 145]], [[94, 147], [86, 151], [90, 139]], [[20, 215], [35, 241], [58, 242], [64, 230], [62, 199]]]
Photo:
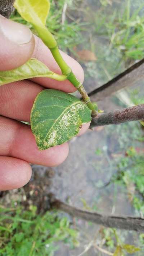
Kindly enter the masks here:
[[[117, 173], [110, 183], [126, 187], [126, 197], [137, 215], [144, 215], [144, 156], [143, 149], [130, 147], [117, 164]], [[109, 184], [110, 184], [109, 183]]]

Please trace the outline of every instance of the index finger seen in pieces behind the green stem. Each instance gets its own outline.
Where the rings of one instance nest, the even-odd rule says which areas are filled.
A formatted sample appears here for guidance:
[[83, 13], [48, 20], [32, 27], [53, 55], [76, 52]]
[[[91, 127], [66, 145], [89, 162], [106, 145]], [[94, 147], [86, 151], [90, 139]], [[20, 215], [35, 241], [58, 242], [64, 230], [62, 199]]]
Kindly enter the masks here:
[[[58, 64], [55, 62], [50, 50], [45, 46], [45, 44], [35, 36], [35, 50], [33, 52], [32, 57], [39, 59], [41, 62], [43, 62], [50, 70], [52, 70], [55, 73], [61, 74], [60, 68], [58, 67]], [[72, 71], [75, 73], [76, 77], [83, 83], [84, 81], [84, 71], [80, 64], [68, 56], [66, 53], [62, 54], [63, 59], [66, 61], [69, 67], [72, 68]], [[32, 81], [35, 81], [36, 83], [53, 89], [59, 89], [62, 91], [66, 91], [68, 93], [72, 93], [76, 91], [76, 88], [68, 81], [56, 81], [50, 78], [46, 77], [37, 77], [32, 78]]]

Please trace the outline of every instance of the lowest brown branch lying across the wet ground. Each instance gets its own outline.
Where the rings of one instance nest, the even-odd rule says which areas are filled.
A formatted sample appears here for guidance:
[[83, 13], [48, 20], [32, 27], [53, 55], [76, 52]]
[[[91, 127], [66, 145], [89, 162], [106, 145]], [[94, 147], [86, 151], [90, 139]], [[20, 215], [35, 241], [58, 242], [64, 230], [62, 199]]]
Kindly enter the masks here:
[[144, 219], [140, 217], [102, 215], [98, 212], [83, 211], [57, 199], [53, 199], [51, 205], [53, 208], [58, 208], [71, 216], [80, 217], [81, 219], [106, 227], [144, 232]]

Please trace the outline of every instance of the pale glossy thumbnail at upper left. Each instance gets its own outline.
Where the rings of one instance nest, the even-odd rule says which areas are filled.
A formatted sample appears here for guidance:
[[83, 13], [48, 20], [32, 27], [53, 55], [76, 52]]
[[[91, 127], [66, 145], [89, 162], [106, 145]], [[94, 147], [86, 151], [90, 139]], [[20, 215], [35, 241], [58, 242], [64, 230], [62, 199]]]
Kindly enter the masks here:
[[5, 19], [0, 15], [0, 33], [16, 44], [27, 44], [32, 38], [32, 32], [26, 26]]

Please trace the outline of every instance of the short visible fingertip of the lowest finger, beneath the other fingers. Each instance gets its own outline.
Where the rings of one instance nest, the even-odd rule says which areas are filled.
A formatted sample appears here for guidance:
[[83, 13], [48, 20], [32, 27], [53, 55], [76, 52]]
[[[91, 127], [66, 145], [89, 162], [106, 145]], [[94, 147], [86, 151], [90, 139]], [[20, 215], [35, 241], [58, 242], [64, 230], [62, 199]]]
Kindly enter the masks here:
[[23, 187], [31, 178], [31, 166], [20, 159], [0, 156], [0, 190]]

